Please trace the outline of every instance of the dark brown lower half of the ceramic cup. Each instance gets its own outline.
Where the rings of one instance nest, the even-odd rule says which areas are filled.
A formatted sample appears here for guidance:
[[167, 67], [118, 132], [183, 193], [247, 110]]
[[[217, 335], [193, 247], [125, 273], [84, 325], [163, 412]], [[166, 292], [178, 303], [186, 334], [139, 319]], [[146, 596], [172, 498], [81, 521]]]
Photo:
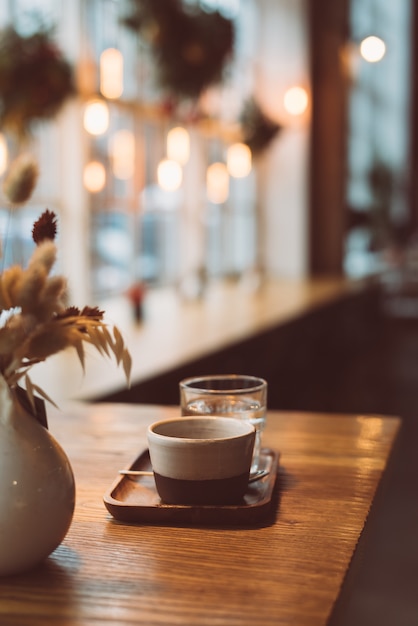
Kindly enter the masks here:
[[158, 494], [166, 504], [239, 504], [247, 491], [248, 472], [214, 480], [180, 480], [154, 472]]

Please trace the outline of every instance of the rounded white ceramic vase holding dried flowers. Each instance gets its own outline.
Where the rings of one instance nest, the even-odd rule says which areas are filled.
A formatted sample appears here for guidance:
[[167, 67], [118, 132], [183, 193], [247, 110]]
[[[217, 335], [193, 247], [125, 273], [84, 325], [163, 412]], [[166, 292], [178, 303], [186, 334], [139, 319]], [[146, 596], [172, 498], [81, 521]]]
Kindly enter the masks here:
[[67, 534], [74, 505], [65, 452], [0, 378], [0, 576], [43, 562]]

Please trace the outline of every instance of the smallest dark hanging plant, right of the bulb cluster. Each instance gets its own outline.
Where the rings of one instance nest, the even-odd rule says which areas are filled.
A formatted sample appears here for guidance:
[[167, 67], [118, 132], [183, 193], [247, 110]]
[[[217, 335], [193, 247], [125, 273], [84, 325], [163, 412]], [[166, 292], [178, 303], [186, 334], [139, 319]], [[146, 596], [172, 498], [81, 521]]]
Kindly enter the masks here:
[[254, 155], [267, 148], [282, 130], [280, 124], [273, 122], [263, 113], [253, 98], [245, 103], [240, 116], [240, 124], [243, 141]]

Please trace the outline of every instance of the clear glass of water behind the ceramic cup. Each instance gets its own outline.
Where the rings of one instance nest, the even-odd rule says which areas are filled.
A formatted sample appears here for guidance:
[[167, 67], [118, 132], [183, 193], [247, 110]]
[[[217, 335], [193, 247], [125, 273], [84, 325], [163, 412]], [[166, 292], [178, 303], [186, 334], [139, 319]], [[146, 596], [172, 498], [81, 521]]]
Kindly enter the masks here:
[[180, 381], [182, 415], [240, 417], [256, 431], [251, 471], [260, 469], [261, 433], [266, 424], [267, 382], [256, 376], [219, 374]]

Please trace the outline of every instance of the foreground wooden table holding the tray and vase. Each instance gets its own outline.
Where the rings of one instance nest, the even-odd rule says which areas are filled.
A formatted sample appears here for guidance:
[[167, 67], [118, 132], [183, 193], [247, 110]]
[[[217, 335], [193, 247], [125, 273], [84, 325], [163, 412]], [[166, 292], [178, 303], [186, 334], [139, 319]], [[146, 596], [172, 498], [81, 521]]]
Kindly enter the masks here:
[[280, 450], [273, 519], [257, 527], [127, 525], [102, 497], [176, 407], [48, 409], [77, 483], [62, 545], [0, 581], [8, 625], [326, 624], [400, 427], [397, 418], [270, 412]]

